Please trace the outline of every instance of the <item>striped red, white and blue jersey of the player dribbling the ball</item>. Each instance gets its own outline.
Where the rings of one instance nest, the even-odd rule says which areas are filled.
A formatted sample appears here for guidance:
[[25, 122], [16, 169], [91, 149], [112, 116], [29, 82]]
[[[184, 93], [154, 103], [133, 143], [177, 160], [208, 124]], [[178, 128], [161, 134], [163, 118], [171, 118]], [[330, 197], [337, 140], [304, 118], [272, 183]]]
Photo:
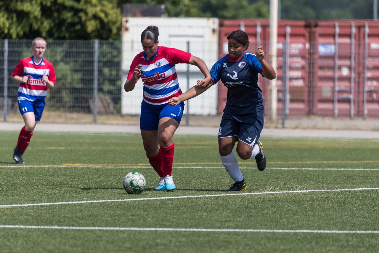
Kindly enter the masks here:
[[143, 100], [152, 105], [165, 104], [171, 97], [182, 94], [175, 64], [188, 63], [190, 58], [191, 53], [162, 46], [149, 60], [146, 60], [146, 53], [141, 52], [133, 59], [127, 80], [132, 78], [134, 69], [141, 64]]

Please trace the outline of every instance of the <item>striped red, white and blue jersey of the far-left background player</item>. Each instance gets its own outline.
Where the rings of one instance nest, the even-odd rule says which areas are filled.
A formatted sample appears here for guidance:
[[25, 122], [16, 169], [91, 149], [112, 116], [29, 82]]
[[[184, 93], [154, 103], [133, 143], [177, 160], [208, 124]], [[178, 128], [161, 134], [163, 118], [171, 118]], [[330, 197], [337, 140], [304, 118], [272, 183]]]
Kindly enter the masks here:
[[36, 101], [44, 99], [47, 95], [46, 83], [42, 80], [43, 75], [47, 75], [49, 80], [55, 83], [55, 71], [53, 64], [42, 58], [37, 65], [34, 57], [22, 59], [14, 69], [12, 76], [29, 75], [28, 83], [20, 83], [17, 100]]

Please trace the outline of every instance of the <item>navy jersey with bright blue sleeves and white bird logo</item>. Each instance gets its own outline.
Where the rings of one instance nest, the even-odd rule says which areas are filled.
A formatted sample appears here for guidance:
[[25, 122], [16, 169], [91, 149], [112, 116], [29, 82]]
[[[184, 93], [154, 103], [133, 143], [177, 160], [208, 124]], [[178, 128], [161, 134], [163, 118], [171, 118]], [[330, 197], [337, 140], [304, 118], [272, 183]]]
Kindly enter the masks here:
[[252, 53], [244, 53], [235, 61], [227, 54], [212, 66], [211, 82], [221, 79], [228, 88], [224, 112], [250, 114], [263, 110], [262, 90], [258, 87], [258, 73], [262, 71], [262, 64]]

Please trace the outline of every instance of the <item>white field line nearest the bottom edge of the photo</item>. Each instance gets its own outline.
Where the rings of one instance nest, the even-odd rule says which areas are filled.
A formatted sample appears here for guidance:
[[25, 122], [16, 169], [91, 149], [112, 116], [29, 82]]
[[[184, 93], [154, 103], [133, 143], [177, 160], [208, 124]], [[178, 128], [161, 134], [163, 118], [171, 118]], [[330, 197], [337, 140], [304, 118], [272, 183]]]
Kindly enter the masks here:
[[184, 232], [276, 232], [276, 233], [329, 233], [329, 234], [379, 234], [379, 231], [361, 230], [309, 230], [309, 229], [208, 229], [208, 228], [112, 228], [112, 227], [71, 227], [71, 226], [22, 226], [0, 225], [0, 228], [34, 229], [78, 229], [78, 230], [137, 230], [137, 231], [184, 231]]

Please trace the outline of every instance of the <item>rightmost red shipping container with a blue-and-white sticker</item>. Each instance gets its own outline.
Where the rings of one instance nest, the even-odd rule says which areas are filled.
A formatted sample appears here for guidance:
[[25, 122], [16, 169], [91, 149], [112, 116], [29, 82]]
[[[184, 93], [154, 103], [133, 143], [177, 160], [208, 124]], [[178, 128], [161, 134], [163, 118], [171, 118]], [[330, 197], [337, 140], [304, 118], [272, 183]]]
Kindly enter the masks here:
[[[365, 66], [365, 24], [369, 27], [367, 57], [367, 103], [368, 116], [378, 116], [378, 80], [379, 80], [379, 22], [373, 20], [337, 20], [319, 21], [315, 28], [315, 68], [314, 103], [310, 107], [311, 115], [334, 115], [334, 64], [335, 31], [338, 25], [337, 58], [337, 116], [349, 116], [351, 98], [353, 99], [353, 116], [363, 116], [364, 66]], [[353, 26], [354, 25], [354, 26]], [[355, 36], [352, 38], [352, 27]], [[354, 57], [351, 45], [354, 42]], [[352, 76], [352, 66], [354, 75]], [[353, 93], [351, 93], [351, 82]]]

